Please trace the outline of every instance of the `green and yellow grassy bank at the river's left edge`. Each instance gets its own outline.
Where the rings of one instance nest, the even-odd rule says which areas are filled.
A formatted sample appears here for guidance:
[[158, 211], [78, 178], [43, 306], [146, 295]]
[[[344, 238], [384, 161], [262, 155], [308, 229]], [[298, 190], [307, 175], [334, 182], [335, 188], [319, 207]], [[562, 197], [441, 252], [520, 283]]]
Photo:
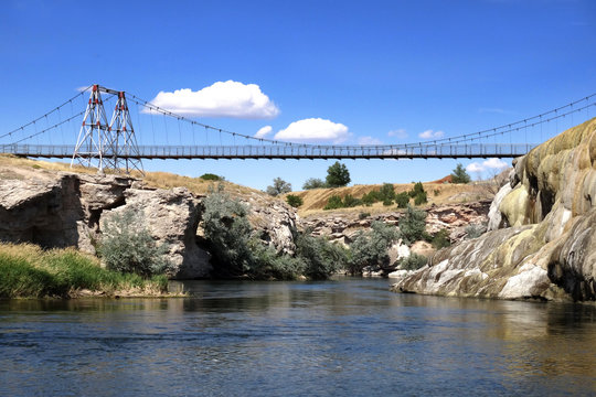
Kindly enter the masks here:
[[164, 276], [142, 279], [106, 270], [97, 258], [72, 248], [44, 251], [29, 244], [0, 244], [0, 298], [151, 297], [167, 289]]

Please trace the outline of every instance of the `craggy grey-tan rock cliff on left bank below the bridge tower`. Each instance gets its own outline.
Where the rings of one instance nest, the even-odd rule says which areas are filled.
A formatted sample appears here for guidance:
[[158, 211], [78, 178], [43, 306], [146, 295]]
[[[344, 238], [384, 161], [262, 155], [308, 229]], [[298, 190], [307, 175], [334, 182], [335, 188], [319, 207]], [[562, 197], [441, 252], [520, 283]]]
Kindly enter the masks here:
[[[202, 197], [185, 187], [149, 189], [126, 176], [0, 167], [0, 242], [95, 254], [103, 222], [136, 210], [153, 239], [168, 245], [171, 278], [209, 277], [210, 255], [198, 238]], [[241, 198], [249, 207], [255, 236], [291, 254], [298, 222], [291, 207], [256, 192]]]

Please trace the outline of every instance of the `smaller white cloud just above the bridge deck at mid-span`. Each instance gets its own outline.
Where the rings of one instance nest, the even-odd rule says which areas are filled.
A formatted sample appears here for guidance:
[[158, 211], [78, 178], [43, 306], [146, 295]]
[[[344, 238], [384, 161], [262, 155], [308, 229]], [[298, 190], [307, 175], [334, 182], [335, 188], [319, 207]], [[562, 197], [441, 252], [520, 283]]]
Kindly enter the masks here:
[[309, 118], [291, 122], [286, 129], [275, 135], [275, 139], [287, 141], [331, 141], [343, 142], [350, 137], [348, 127], [342, 124]]

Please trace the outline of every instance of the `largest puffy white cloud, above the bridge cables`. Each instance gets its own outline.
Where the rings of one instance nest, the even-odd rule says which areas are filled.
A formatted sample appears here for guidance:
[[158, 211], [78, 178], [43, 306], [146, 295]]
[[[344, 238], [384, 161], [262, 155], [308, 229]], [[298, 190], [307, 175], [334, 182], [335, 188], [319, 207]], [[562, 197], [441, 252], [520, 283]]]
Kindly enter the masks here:
[[258, 85], [233, 81], [217, 82], [198, 92], [190, 88], [160, 92], [151, 103], [182, 116], [266, 119], [279, 115], [277, 106]]

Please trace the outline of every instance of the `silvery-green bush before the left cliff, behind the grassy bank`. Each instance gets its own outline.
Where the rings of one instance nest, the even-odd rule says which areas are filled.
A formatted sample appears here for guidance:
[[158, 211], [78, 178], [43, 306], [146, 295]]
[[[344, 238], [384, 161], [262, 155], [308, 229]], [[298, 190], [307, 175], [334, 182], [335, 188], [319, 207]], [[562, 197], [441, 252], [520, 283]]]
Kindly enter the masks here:
[[167, 244], [157, 245], [145, 226], [145, 214], [137, 210], [111, 213], [102, 223], [97, 253], [110, 270], [142, 277], [170, 270]]

